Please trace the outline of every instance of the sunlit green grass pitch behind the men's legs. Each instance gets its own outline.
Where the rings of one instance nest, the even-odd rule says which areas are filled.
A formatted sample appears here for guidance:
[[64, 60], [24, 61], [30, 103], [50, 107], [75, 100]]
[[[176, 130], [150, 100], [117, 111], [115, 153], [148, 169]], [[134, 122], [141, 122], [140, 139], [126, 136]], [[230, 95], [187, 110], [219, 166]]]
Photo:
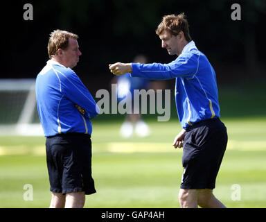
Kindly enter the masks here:
[[[222, 119], [229, 144], [214, 194], [227, 207], [266, 207], [266, 118]], [[181, 149], [178, 121], [149, 121], [152, 135], [119, 137], [121, 121], [93, 121], [96, 194], [85, 207], [179, 207]], [[48, 207], [51, 200], [44, 137], [0, 137], [0, 207]], [[24, 185], [33, 200], [24, 200]], [[233, 185], [240, 186], [238, 199]]]

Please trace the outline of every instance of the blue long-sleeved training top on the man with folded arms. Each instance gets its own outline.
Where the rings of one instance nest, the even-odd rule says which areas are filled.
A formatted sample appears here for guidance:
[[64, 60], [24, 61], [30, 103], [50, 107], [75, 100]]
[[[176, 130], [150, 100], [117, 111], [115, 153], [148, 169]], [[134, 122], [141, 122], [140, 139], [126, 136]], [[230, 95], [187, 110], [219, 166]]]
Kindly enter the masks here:
[[[76, 73], [54, 60], [36, 78], [36, 99], [44, 136], [61, 133], [91, 135], [91, 121], [100, 109]], [[82, 115], [75, 105], [85, 109]]]

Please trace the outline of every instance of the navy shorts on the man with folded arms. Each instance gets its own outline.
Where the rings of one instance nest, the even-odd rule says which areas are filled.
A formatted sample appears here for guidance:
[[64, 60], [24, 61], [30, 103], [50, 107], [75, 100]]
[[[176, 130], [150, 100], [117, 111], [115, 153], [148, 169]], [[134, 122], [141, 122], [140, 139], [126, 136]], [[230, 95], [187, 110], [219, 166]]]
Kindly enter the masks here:
[[96, 193], [91, 177], [90, 135], [67, 133], [47, 137], [46, 162], [52, 192]]

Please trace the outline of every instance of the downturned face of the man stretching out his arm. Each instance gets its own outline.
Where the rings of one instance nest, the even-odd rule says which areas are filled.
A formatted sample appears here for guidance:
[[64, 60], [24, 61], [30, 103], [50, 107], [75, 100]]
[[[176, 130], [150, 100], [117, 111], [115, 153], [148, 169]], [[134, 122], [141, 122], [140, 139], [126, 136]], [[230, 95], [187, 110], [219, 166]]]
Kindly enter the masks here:
[[179, 55], [179, 35], [175, 36], [168, 31], [163, 31], [159, 38], [161, 39], [161, 47], [166, 48], [169, 55]]

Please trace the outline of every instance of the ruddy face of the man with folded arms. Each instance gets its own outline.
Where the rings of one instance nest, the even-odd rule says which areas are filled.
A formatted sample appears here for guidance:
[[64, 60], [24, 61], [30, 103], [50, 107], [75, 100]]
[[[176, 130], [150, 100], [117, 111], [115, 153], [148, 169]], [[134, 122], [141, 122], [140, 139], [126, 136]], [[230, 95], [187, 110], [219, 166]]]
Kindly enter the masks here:
[[65, 67], [70, 67], [71, 69], [73, 67], [76, 67], [79, 57], [81, 55], [78, 41], [76, 39], [73, 39], [72, 37], [69, 38], [69, 46], [67, 49], [62, 50], [62, 61], [63, 65]]

